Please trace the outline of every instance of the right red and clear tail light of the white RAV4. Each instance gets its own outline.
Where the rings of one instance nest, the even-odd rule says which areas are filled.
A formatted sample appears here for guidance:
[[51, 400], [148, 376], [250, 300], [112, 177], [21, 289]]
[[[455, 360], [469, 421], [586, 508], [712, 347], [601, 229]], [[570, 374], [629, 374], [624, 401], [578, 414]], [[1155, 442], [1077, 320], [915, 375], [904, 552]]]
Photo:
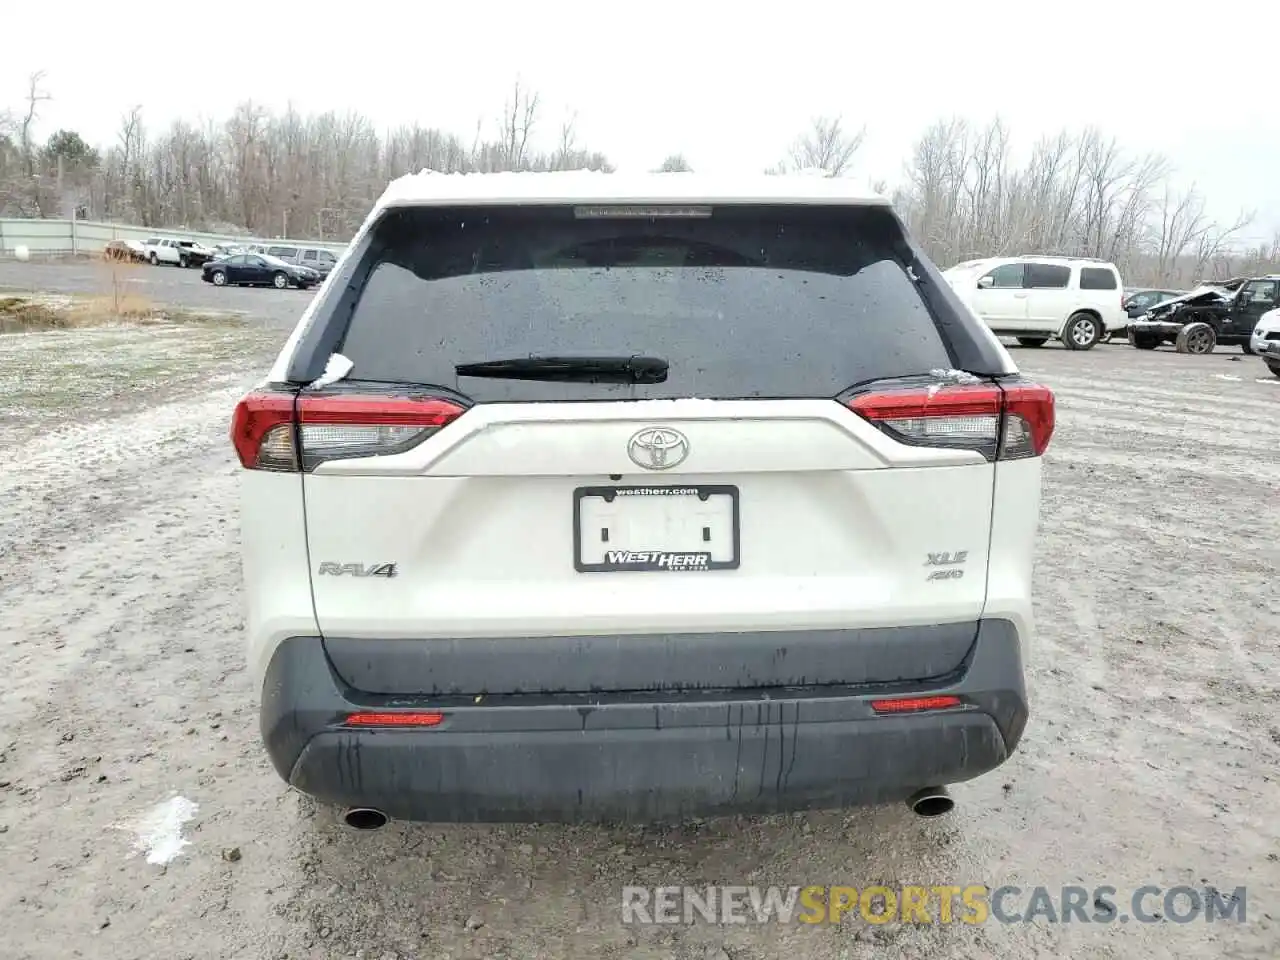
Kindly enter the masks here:
[[859, 416], [902, 443], [980, 452], [988, 460], [1038, 457], [1053, 436], [1053, 393], [1019, 381], [864, 393]]

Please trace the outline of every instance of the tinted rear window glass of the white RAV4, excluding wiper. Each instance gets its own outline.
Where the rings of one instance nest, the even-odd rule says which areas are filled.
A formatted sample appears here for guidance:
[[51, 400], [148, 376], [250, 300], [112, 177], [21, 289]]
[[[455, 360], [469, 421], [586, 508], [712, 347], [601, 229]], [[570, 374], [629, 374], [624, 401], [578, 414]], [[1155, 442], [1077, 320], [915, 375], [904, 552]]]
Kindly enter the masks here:
[[[484, 399], [833, 397], [951, 366], [896, 219], [867, 207], [717, 207], [580, 218], [573, 207], [397, 211], [340, 351], [356, 380]], [[462, 376], [527, 356], [659, 357], [658, 384]]]

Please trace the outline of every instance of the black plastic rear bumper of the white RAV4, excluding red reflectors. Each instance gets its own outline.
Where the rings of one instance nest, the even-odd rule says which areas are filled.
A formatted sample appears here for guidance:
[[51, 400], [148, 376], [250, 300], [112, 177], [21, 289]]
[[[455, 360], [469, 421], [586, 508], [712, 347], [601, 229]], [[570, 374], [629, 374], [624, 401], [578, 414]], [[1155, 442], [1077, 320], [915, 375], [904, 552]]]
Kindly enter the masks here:
[[[412, 644], [415, 641], [403, 641]], [[877, 698], [963, 705], [879, 716]], [[431, 709], [419, 730], [351, 730], [358, 710]], [[434, 696], [346, 684], [315, 637], [276, 650], [262, 736], [302, 792], [440, 822], [653, 820], [888, 803], [1004, 763], [1027, 722], [1020, 640], [982, 621], [960, 667], [925, 684], [634, 694]]]

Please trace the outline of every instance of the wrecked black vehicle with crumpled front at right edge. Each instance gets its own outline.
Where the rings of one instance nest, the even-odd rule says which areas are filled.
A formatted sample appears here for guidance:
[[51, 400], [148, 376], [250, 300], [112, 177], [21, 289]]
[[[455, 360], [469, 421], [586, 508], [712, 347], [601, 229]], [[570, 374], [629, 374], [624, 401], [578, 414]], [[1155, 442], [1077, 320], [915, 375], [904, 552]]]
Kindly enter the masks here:
[[1129, 321], [1129, 343], [1155, 349], [1171, 343], [1179, 353], [1212, 353], [1219, 344], [1253, 353], [1249, 337], [1262, 315], [1280, 306], [1280, 275], [1236, 276], [1197, 287], [1156, 303]]

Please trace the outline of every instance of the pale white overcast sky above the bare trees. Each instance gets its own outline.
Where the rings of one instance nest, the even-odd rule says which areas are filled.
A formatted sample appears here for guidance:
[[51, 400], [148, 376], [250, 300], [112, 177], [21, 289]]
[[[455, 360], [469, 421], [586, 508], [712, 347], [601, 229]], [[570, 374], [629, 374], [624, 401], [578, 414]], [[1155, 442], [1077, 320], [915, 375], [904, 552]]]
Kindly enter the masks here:
[[8, 0], [0, 28], [0, 105], [19, 108], [42, 69], [40, 134], [97, 145], [133, 105], [155, 131], [246, 99], [470, 137], [518, 76], [541, 97], [541, 145], [576, 111], [582, 145], [623, 169], [684, 152], [699, 170], [760, 170], [808, 118], [840, 114], [867, 124], [858, 173], [893, 183], [932, 120], [998, 114], [1023, 145], [1097, 124], [1166, 154], [1215, 215], [1256, 209], [1251, 237], [1280, 229], [1276, 0], [178, 0], [154, 17]]

